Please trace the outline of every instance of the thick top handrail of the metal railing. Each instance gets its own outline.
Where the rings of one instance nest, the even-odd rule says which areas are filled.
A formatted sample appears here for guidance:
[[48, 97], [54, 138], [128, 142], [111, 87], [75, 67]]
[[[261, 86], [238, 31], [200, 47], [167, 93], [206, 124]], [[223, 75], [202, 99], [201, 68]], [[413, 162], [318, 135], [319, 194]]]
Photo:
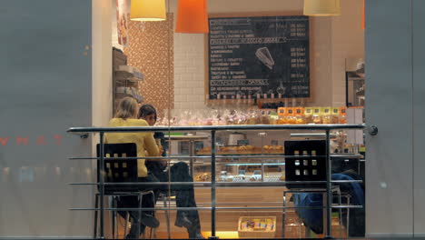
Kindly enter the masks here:
[[188, 126], [116, 126], [70, 127], [68, 133], [111, 132], [175, 132], [175, 131], [225, 131], [225, 130], [334, 130], [364, 129], [366, 125], [188, 125]]

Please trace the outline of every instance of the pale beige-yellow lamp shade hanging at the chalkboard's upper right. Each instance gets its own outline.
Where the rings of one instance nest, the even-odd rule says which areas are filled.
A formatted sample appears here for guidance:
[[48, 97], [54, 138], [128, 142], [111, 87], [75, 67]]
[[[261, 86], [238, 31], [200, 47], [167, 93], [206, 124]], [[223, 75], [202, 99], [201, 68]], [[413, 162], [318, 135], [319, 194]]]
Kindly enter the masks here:
[[340, 0], [304, 0], [304, 15], [341, 15]]

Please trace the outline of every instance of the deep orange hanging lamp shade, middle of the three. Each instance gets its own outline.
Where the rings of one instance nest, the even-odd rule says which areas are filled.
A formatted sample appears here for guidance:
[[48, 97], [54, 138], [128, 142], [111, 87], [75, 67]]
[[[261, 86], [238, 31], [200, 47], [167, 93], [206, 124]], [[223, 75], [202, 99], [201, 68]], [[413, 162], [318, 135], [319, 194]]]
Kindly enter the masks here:
[[176, 33], [208, 33], [207, 0], [179, 0], [176, 22]]

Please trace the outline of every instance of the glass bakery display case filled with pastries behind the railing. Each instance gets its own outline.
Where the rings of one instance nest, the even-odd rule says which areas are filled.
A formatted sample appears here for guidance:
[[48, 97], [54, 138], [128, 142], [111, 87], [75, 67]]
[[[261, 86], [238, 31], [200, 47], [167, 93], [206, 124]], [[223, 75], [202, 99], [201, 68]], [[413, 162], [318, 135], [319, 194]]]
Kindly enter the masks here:
[[[227, 183], [249, 182], [284, 182], [285, 181], [285, 157], [284, 143], [292, 140], [324, 140], [325, 135], [315, 131], [298, 131], [289, 133], [280, 132], [241, 132], [244, 138], [232, 142], [232, 131], [223, 131], [217, 137], [216, 153], [216, 181]], [[344, 131], [331, 133], [331, 152], [336, 157], [335, 171], [346, 170], [341, 165], [351, 162], [359, 162], [362, 157], [355, 153], [349, 153], [346, 149]], [[172, 164], [186, 161], [191, 166], [191, 173], [195, 182], [211, 181], [211, 161], [206, 157], [211, 155], [211, 141], [205, 132], [197, 132], [195, 135], [171, 135], [172, 155], [187, 155], [191, 158], [173, 159]], [[183, 144], [182, 142], [185, 142]], [[177, 145], [173, 147], [173, 145]], [[344, 153], [344, 158], [341, 157]], [[302, 154], [302, 153], [301, 153]], [[354, 160], [353, 160], [354, 159]], [[340, 164], [340, 162], [342, 164]], [[351, 166], [353, 166], [351, 164]], [[358, 171], [354, 165], [353, 170]]]

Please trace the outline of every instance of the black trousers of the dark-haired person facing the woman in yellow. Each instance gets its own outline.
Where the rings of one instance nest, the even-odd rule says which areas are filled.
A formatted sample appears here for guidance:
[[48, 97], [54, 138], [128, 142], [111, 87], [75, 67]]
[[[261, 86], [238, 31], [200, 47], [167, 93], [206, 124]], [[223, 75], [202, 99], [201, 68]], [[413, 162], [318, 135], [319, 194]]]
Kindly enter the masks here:
[[[149, 174], [146, 177], [139, 177], [139, 182], [168, 182], [170, 176], [171, 182], [193, 182], [193, 177], [189, 174], [189, 166], [183, 162], [173, 165], [168, 171], [163, 171], [163, 167], [158, 162], [146, 163], [146, 167], [148, 168]], [[172, 195], [176, 195], [177, 207], [196, 207], [193, 185], [171, 185], [171, 188], [169, 185], [141, 185], [140, 190], [153, 190], [155, 202], [161, 193], [168, 195], [172, 192]], [[121, 197], [118, 203], [118, 207], [127, 208], [137, 208], [138, 205], [139, 201], [137, 196]], [[143, 207], [153, 207], [152, 197], [148, 195], [144, 196], [142, 205]], [[148, 214], [153, 215], [152, 212]], [[133, 220], [138, 219], [139, 216], [137, 211], [132, 211], [130, 215]], [[193, 223], [193, 228], [190, 230], [201, 229], [199, 213], [197, 210], [177, 210], [176, 225], [179, 219], [181, 219], [184, 215]]]

